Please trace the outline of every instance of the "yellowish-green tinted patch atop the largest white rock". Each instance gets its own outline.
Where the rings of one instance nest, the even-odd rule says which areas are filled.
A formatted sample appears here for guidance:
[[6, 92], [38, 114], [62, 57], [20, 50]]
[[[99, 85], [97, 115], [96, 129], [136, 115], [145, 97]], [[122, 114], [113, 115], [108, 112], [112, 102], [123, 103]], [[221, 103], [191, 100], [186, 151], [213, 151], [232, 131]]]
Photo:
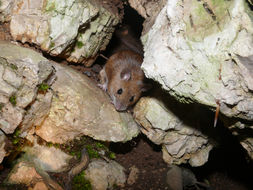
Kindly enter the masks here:
[[222, 30], [229, 19], [231, 4], [226, 0], [193, 1], [187, 4], [189, 13], [184, 15], [184, 22], [188, 38], [202, 41], [206, 36]]

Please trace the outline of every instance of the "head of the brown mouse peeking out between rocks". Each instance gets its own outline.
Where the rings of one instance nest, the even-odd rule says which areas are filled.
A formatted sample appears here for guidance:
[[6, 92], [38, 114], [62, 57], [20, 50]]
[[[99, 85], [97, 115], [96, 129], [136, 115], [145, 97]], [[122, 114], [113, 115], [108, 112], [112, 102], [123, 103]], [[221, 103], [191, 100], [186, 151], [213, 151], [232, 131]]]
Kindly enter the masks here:
[[117, 80], [108, 85], [108, 94], [117, 111], [124, 111], [139, 100], [141, 93], [148, 90], [143, 83], [144, 73], [141, 69], [124, 69]]

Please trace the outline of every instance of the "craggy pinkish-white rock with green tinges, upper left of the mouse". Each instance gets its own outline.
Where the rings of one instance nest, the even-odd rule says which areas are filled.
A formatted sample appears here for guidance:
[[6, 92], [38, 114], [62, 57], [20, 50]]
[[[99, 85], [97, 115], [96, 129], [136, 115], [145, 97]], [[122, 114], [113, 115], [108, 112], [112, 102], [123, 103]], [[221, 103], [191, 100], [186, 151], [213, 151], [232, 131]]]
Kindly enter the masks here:
[[103, 3], [106, 1], [17, 0], [11, 35], [14, 40], [36, 44], [53, 56], [90, 66], [121, 20], [116, 6], [108, 8]]

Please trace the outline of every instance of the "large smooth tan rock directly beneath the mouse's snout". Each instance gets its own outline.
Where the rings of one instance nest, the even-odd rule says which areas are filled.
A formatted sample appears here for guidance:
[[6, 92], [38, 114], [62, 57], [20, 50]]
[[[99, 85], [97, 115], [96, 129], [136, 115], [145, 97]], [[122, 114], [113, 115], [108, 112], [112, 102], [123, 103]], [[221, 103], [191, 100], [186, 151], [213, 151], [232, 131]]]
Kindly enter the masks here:
[[54, 65], [57, 79], [50, 113], [36, 134], [53, 143], [88, 135], [103, 141], [127, 141], [139, 128], [132, 116], [120, 113], [109, 97], [87, 76], [66, 66]]

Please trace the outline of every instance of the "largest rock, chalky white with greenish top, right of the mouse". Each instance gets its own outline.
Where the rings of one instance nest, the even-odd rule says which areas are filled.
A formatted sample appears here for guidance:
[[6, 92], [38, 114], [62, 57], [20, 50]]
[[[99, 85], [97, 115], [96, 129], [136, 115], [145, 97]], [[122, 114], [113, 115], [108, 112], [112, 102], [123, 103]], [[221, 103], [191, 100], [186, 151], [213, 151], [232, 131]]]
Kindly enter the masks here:
[[237, 57], [253, 52], [249, 14], [244, 0], [168, 1], [142, 37], [145, 74], [181, 102], [252, 121], [252, 76]]

